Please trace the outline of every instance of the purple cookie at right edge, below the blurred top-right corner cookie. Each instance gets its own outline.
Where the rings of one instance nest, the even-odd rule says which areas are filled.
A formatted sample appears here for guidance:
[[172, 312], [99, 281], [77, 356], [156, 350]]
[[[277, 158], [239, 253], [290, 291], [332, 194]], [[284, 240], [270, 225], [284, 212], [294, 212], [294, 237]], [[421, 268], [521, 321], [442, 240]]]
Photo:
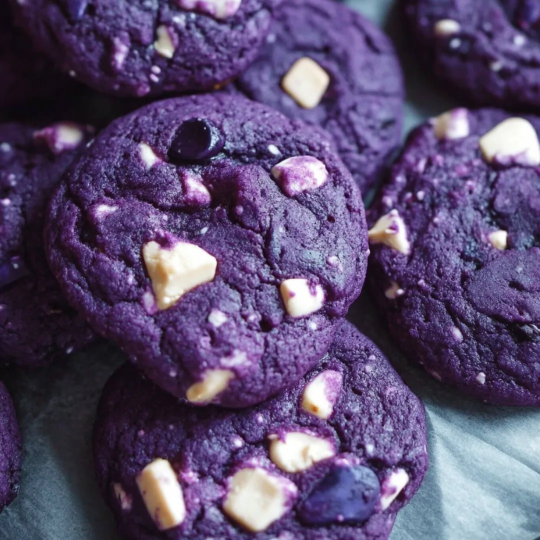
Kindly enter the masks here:
[[540, 405], [540, 119], [456, 109], [409, 137], [369, 215], [370, 280], [437, 380]]

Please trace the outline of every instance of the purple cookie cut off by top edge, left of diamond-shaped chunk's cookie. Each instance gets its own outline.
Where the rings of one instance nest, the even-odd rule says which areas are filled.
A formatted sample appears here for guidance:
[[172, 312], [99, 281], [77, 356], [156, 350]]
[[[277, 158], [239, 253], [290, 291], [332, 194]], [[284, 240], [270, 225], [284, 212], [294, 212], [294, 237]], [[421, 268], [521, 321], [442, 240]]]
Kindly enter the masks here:
[[280, 0], [14, 0], [17, 23], [65, 71], [122, 96], [211, 89], [257, 56]]

